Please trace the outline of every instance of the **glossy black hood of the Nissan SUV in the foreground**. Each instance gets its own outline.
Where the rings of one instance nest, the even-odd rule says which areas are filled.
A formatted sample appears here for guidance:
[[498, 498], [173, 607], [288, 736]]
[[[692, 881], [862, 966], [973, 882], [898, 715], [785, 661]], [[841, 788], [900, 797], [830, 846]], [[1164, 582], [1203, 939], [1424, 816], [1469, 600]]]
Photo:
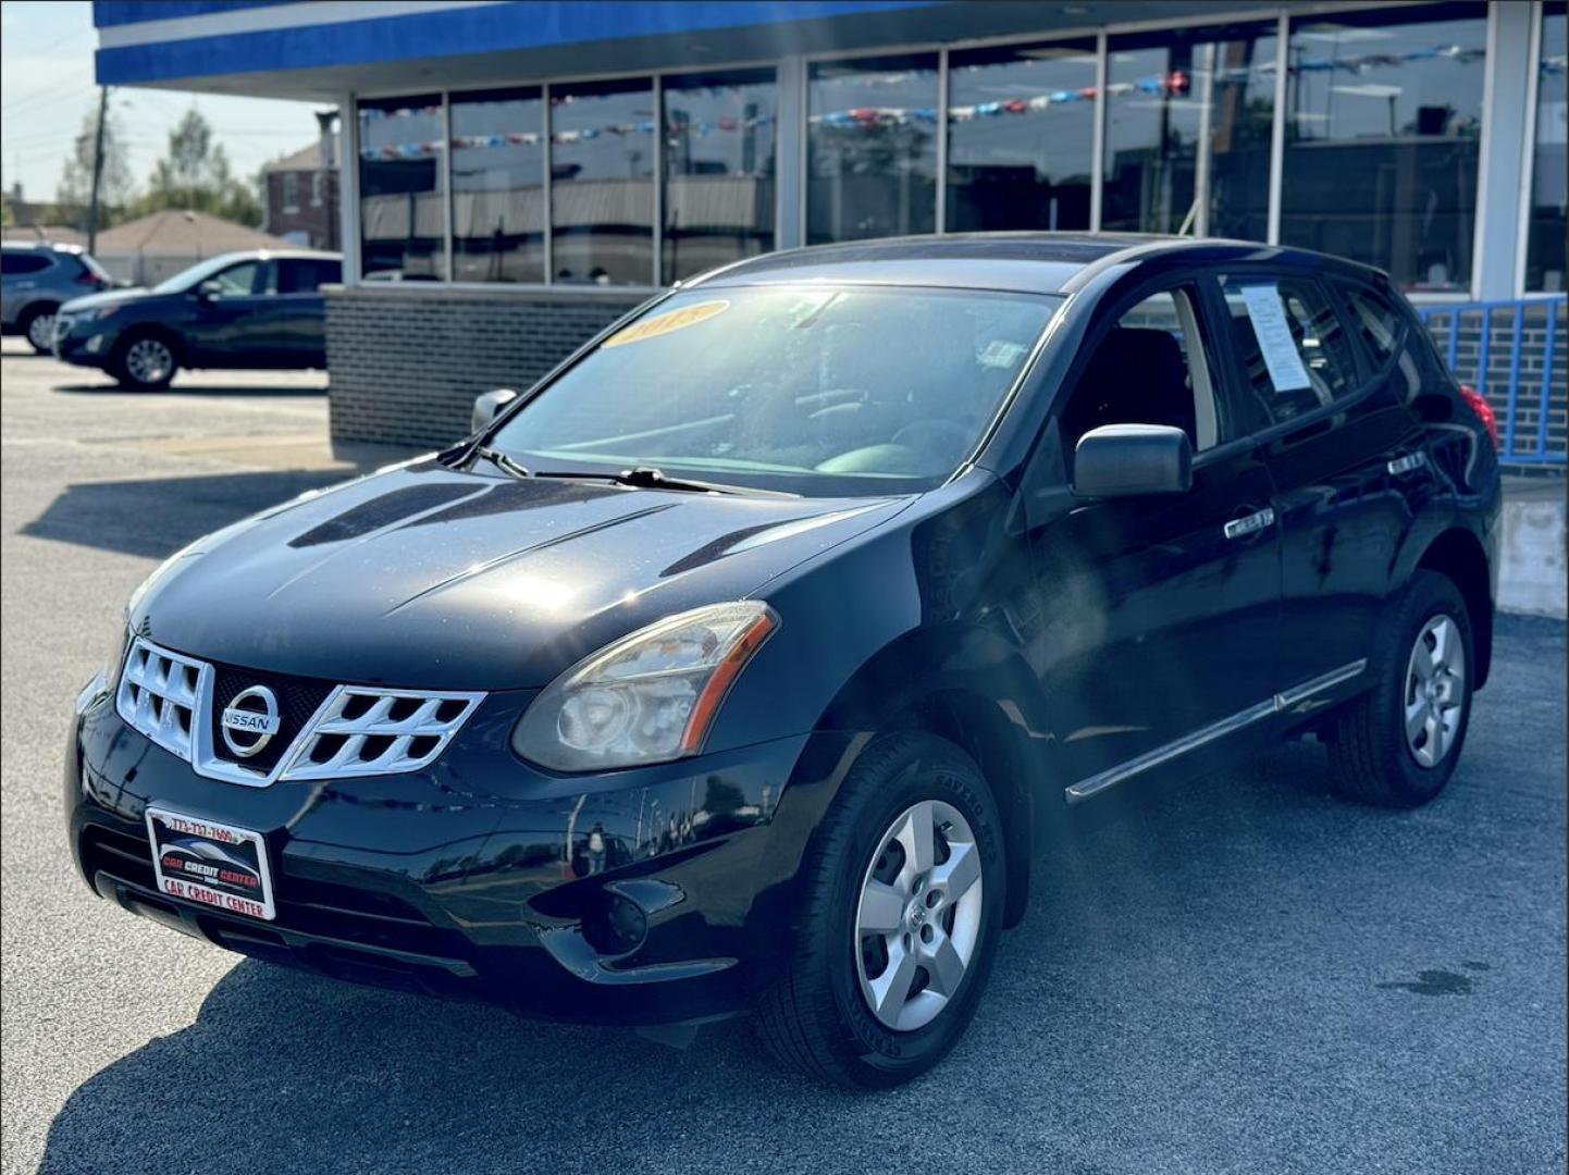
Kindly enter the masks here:
[[198, 540], [154, 573], [130, 623], [246, 668], [526, 689], [661, 617], [745, 598], [910, 500], [511, 480], [424, 460]]

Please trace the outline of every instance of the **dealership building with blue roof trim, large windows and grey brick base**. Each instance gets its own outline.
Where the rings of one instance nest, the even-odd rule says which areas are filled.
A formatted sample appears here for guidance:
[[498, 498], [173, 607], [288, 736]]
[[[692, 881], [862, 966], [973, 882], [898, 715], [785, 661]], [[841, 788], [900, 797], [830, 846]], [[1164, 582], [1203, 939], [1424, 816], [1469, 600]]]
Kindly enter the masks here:
[[1495, 304], [1431, 325], [1508, 384], [1522, 458], [1561, 452], [1563, 0], [100, 0], [94, 22], [100, 83], [342, 111], [337, 442], [450, 441], [475, 392], [741, 257], [1098, 229]]

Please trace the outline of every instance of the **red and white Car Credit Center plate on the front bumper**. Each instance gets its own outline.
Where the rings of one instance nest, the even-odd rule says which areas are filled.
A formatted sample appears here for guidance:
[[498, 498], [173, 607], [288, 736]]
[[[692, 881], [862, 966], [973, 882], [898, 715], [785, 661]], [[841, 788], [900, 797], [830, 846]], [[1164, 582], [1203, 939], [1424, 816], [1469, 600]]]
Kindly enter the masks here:
[[273, 879], [260, 833], [163, 808], [147, 808], [158, 889], [226, 913], [271, 921]]

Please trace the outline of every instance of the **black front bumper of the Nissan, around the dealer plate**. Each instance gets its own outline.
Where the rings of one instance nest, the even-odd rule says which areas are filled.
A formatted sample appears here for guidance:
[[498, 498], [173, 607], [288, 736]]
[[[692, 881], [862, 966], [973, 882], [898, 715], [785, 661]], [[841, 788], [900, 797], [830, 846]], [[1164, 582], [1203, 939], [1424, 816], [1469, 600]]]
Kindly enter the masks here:
[[[64, 770], [77, 868], [133, 913], [340, 979], [598, 1023], [744, 1007], [789, 952], [791, 880], [824, 791], [802, 772], [827, 777], [843, 748], [799, 736], [548, 777], [505, 748], [524, 701], [491, 695], [425, 772], [245, 788], [196, 775], [108, 695], [85, 698]], [[276, 921], [160, 893], [147, 803], [260, 831]]]

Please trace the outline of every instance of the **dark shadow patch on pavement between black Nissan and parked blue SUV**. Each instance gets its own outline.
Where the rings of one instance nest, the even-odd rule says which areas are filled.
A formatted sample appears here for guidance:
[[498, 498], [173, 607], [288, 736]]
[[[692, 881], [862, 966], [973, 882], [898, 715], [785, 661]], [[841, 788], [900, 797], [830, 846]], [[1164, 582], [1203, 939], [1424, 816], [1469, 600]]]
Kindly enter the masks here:
[[82, 482], [67, 486], [22, 533], [163, 558], [246, 515], [351, 475], [345, 469], [304, 469]]

